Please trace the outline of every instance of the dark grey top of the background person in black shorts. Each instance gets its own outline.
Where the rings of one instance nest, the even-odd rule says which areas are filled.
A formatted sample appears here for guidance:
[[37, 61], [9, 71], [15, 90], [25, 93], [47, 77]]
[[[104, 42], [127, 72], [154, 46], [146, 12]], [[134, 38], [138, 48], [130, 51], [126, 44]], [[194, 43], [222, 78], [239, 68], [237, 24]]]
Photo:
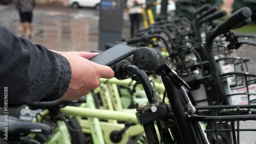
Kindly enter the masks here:
[[35, 8], [35, 0], [17, 0], [17, 9], [20, 13], [32, 12]]

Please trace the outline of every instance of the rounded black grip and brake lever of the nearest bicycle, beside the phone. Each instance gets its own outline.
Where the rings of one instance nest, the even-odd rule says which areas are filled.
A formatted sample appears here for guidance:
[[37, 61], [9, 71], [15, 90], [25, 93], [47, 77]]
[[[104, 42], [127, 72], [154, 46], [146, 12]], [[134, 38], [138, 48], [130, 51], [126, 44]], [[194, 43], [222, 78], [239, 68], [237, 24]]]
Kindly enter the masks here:
[[169, 80], [180, 90], [180, 100], [187, 113], [191, 115], [196, 112], [195, 107], [190, 102], [184, 89], [189, 86], [184, 84], [185, 82], [177, 75], [177, 73], [167, 66], [165, 58], [160, 52], [150, 47], [141, 47], [135, 51], [133, 58], [134, 64], [140, 69], [169, 77]]

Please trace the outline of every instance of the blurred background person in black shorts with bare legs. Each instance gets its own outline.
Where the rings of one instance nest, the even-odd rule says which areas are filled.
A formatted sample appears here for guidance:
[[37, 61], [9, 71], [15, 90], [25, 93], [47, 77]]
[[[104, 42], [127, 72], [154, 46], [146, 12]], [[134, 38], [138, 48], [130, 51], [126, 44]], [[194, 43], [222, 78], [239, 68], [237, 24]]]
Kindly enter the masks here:
[[17, 0], [17, 9], [20, 16], [20, 22], [23, 27], [23, 37], [27, 36], [27, 27], [29, 24], [29, 38], [33, 37], [33, 10], [35, 8], [35, 0]]

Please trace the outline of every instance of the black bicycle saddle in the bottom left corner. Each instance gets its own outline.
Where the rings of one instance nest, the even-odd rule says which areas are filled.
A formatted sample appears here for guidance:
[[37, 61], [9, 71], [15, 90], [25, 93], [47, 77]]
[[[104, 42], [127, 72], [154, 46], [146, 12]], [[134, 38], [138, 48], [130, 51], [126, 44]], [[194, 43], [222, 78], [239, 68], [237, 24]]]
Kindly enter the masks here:
[[[7, 125], [8, 124], [8, 125]], [[7, 128], [7, 129], [6, 129]], [[19, 122], [16, 117], [0, 115], [0, 137], [18, 136], [20, 134], [44, 133], [51, 134], [50, 126], [41, 123]]]

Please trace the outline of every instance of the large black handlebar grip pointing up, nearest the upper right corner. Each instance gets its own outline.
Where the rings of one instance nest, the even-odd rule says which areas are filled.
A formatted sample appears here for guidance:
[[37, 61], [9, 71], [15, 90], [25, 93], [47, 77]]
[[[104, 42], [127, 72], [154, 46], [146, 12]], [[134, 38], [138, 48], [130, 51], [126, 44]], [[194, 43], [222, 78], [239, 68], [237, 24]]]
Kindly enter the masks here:
[[229, 18], [223, 21], [217, 28], [216, 34], [225, 33], [240, 26], [247, 18], [251, 17], [251, 10], [244, 7], [234, 12]]

